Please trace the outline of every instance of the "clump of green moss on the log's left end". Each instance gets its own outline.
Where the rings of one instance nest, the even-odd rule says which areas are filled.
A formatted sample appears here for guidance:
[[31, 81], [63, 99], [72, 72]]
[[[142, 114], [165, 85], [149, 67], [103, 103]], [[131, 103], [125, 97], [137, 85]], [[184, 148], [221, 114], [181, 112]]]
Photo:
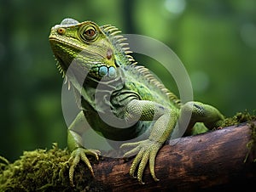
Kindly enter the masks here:
[[[72, 188], [68, 177], [68, 150], [53, 144], [51, 150], [25, 151], [20, 159], [9, 163], [0, 158], [0, 191], [101, 191], [91, 176], [79, 165]], [[81, 170], [81, 171], [80, 171]], [[81, 179], [83, 177], [83, 179]]]

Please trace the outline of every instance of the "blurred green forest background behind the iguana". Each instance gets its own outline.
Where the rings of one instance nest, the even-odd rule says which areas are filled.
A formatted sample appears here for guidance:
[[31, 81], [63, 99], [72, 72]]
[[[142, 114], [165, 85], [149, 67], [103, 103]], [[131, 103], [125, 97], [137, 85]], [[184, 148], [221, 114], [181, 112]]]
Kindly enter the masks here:
[[[165, 42], [189, 72], [196, 100], [225, 116], [256, 109], [255, 0], [1, 0], [0, 155], [10, 161], [53, 142], [66, 147], [62, 79], [48, 42], [50, 27], [66, 17]], [[177, 93], [154, 60], [138, 60]]]

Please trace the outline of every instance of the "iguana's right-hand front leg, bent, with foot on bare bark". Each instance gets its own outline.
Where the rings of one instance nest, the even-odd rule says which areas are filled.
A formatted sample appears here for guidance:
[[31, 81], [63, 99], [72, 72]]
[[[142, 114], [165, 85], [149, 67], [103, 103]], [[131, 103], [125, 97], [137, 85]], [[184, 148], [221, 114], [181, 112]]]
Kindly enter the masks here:
[[[139, 116], [139, 117], [138, 117]], [[178, 112], [171, 110], [163, 105], [157, 104], [147, 100], [132, 100], [126, 107], [125, 119], [127, 121], [153, 121], [155, 120], [154, 127], [148, 139], [139, 141], [137, 143], [122, 144], [121, 148], [133, 148], [125, 153], [125, 157], [135, 155], [132, 162], [130, 175], [134, 177], [134, 172], [137, 170], [137, 180], [143, 183], [143, 172], [149, 161], [149, 170], [155, 181], [159, 179], [155, 176], [154, 161], [155, 156], [160, 150], [162, 144], [172, 133], [176, 125]], [[138, 168], [137, 168], [138, 167]]]

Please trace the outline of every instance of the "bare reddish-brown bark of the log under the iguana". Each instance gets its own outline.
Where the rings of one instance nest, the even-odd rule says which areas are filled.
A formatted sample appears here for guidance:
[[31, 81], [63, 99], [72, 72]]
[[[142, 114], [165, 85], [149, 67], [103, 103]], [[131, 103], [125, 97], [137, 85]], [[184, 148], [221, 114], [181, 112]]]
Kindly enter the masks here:
[[131, 178], [128, 172], [133, 159], [125, 162], [105, 158], [93, 166], [95, 179], [113, 191], [198, 191], [252, 187], [256, 182], [253, 154], [244, 162], [251, 132], [250, 126], [242, 125], [172, 140], [156, 158], [155, 172], [159, 182], [151, 178], [148, 167], [143, 177], [145, 185]]

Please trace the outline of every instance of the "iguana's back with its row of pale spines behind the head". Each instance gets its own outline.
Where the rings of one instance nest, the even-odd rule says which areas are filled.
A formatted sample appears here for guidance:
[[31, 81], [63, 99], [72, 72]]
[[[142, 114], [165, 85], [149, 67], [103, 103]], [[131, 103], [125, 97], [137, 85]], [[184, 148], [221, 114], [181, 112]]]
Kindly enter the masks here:
[[[127, 39], [120, 35], [121, 31], [113, 25], [102, 25], [101, 29], [112, 42], [117, 64], [125, 71], [127, 80], [137, 82], [140, 86], [148, 88], [149, 92], [154, 92], [154, 100], [161, 100], [161, 103], [163, 103], [164, 100], [164, 103], [180, 108], [180, 99], [167, 89], [148, 68], [143, 65], [137, 65], [137, 62], [131, 56], [132, 51], [128, 47], [129, 44], [125, 42]], [[143, 94], [142, 91], [141, 93]], [[155, 98], [155, 95], [158, 95], [160, 98]]]

